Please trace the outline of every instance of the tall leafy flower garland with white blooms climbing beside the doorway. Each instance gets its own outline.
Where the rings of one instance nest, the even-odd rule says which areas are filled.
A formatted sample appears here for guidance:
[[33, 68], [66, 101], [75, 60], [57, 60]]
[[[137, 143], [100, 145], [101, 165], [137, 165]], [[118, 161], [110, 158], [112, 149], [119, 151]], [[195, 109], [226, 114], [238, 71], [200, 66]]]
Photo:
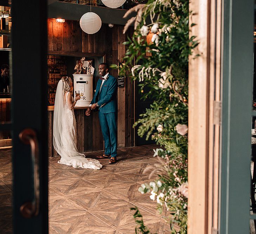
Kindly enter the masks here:
[[[160, 210], [165, 206], [172, 217], [171, 232], [182, 234], [187, 231], [188, 209], [188, 58], [197, 46], [195, 36], [189, 37], [189, 1], [149, 0], [125, 17], [132, 11], [137, 16], [127, 21], [124, 32], [134, 23], [134, 34], [124, 42], [128, 49], [120, 73], [132, 74], [142, 99], [154, 100], [134, 126], [139, 136], [161, 146], [153, 155], [159, 164], [146, 168], [150, 178], [158, 179], [142, 184], [139, 192], [150, 193]], [[149, 91], [144, 92], [145, 87]]]

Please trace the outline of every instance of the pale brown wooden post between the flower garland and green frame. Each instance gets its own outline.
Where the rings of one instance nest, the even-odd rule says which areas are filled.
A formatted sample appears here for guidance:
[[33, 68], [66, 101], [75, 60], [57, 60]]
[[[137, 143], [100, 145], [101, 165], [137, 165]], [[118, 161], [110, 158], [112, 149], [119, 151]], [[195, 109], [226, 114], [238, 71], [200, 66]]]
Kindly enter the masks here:
[[[221, 1], [190, 2], [188, 234], [218, 229]], [[195, 59], [195, 55], [200, 56]]]

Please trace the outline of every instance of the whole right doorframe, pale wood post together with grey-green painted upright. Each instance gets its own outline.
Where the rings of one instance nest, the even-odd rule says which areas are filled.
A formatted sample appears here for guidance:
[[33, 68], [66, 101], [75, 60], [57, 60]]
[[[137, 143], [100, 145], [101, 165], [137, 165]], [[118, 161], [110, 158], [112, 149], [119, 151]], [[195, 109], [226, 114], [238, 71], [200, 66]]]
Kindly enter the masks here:
[[248, 233], [253, 1], [191, 0], [190, 11], [188, 233]]

